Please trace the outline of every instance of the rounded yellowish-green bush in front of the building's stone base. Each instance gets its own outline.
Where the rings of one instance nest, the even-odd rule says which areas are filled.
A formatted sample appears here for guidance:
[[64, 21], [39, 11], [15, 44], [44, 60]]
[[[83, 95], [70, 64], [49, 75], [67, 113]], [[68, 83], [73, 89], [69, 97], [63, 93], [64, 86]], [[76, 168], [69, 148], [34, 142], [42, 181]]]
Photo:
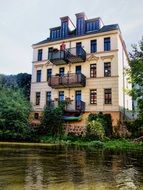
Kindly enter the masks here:
[[105, 130], [101, 121], [92, 120], [88, 122], [87, 136], [89, 136], [90, 138], [104, 138]]

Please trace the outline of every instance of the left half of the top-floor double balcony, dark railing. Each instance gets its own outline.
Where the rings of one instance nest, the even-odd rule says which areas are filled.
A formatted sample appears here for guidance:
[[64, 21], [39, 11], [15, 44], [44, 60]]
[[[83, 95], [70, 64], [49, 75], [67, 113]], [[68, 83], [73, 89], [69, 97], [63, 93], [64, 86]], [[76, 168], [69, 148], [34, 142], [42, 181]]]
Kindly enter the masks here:
[[53, 50], [49, 52], [48, 59], [55, 65], [67, 64], [67, 52], [63, 50]]

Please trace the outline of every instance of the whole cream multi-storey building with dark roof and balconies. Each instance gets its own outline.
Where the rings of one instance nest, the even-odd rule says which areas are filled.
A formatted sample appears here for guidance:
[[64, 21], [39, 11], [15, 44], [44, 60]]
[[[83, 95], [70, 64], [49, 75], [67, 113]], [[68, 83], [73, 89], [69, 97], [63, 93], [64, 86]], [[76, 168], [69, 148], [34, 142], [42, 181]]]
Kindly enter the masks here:
[[[37, 120], [44, 106], [67, 101], [65, 120], [85, 124], [89, 113], [110, 113], [113, 125], [132, 109], [124, 93], [128, 55], [118, 24], [76, 14], [50, 29], [50, 37], [33, 47], [31, 102]], [[71, 29], [72, 25], [72, 29]], [[80, 117], [82, 114], [82, 118]], [[74, 123], [76, 124], [76, 122]]]

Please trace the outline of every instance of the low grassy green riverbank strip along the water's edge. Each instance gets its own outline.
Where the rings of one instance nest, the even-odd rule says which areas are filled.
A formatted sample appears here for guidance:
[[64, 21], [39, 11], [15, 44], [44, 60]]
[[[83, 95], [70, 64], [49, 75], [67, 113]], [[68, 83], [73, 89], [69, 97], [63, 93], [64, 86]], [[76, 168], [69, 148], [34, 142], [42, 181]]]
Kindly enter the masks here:
[[49, 146], [80, 146], [94, 147], [105, 150], [140, 150], [143, 151], [143, 143], [135, 143], [126, 139], [114, 139], [105, 141], [83, 141], [83, 140], [61, 140], [59, 138], [49, 138], [42, 143], [30, 142], [0, 142], [0, 146], [22, 146], [22, 147], [49, 147]]

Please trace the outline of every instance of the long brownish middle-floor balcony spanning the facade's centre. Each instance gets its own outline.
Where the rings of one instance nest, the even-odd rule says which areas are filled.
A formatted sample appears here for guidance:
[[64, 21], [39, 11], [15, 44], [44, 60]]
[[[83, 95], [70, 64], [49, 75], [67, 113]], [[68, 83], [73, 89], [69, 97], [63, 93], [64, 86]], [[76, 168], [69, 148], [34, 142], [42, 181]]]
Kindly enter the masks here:
[[51, 76], [48, 85], [52, 88], [85, 87], [86, 77], [82, 74], [69, 73], [63, 76]]

